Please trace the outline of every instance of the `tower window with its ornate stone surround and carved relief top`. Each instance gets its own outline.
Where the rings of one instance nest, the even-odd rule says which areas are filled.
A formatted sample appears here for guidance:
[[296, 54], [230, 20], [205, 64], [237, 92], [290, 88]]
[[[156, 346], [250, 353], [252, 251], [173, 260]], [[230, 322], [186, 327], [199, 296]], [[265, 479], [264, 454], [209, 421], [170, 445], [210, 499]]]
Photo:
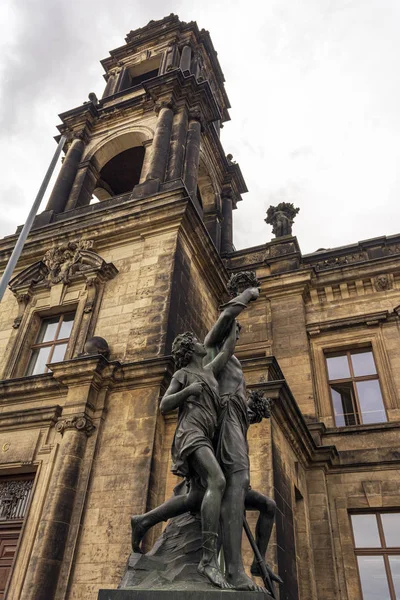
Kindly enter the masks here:
[[54, 246], [9, 284], [18, 301], [4, 378], [46, 373], [46, 365], [73, 358], [93, 335], [102, 290], [118, 271], [92, 240]]

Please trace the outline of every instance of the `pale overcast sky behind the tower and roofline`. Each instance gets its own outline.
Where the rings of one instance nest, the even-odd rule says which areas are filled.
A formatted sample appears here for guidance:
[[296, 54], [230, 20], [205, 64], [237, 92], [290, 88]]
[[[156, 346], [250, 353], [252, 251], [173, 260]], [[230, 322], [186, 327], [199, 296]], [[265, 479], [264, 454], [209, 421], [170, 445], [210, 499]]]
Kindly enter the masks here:
[[398, 0], [1, 0], [0, 237], [25, 221], [57, 115], [100, 97], [100, 59], [170, 12], [210, 31], [225, 74], [222, 141], [249, 189], [237, 248], [271, 239], [282, 200], [303, 253], [400, 231]]

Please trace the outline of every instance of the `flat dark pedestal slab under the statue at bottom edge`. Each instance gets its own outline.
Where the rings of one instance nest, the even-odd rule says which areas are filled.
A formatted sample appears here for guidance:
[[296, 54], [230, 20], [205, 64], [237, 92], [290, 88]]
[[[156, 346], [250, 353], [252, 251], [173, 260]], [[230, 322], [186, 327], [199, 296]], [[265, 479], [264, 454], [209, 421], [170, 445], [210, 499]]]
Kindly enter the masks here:
[[265, 600], [263, 592], [235, 590], [100, 590], [98, 600]]

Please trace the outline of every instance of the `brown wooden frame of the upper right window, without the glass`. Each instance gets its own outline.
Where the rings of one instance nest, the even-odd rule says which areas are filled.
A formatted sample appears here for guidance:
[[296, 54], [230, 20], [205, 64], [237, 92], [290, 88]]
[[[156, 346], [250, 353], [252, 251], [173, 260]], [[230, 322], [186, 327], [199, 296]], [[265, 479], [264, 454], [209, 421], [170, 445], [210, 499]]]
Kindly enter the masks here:
[[[371, 375], [359, 375], [356, 376], [354, 374], [354, 368], [353, 368], [353, 362], [351, 360], [351, 355], [353, 354], [362, 354], [365, 351], [369, 351], [372, 354], [372, 359], [374, 361], [374, 365], [375, 365], [375, 374], [371, 374]], [[326, 380], [327, 380], [327, 385], [328, 385], [328, 393], [329, 393], [329, 400], [330, 400], [330, 405], [331, 405], [331, 411], [332, 411], [332, 416], [333, 416], [333, 420], [335, 423], [335, 427], [340, 427], [340, 428], [346, 428], [346, 427], [354, 427], [357, 425], [360, 426], [365, 426], [365, 425], [376, 425], [376, 424], [381, 424], [381, 423], [388, 423], [389, 422], [389, 418], [388, 418], [388, 411], [387, 411], [387, 407], [386, 407], [386, 403], [385, 403], [385, 399], [384, 399], [384, 394], [383, 394], [383, 389], [382, 389], [382, 383], [381, 383], [381, 377], [378, 371], [378, 364], [375, 358], [375, 354], [374, 354], [374, 348], [372, 344], [368, 344], [368, 345], [355, 345], [355, 346], [347, 346], [345, 348], [341, 348], [340, 350], [334, 350], [334, 349], [325, 349], [323, 351], [323, 355], [324, 355], [324, 361], [325, 361], [325, 372], [326, 372]], [[328, 358], [335, 358], [338, 356], [346, 356], [347, 358], [347, 363], [349, 366], [349, 371], [350, 371], [350, 377], [344, 377], [341, 379], [330, 379], [329, 378], [329, 369], [328, 369]], [[381, 394], [381, 399], [382, 399], [382, 405], [383, 405], [383, 410], [385, 412], [385, 416], [386, 416], [386, 421], [377, 421], [375, 423], [364, 423], [363, 422], [363, 414], [362, 414], [362, 410], [361, 410], [361, 405], [360, 405], [360, 399], [359, 399], [359, 395], [358, 395], [358, 389], [357, 386], [355, 385], [356, 383], [358, 383], [359, 381], [378, 381], [378, 385], [379, 385], [379, 391]], [[332, 397], [332, 384], [333, 383], [348, 383], [351, 382], [352, 384], [352, 388], [353, 388], [353, 394], [354, 394], [354, 400], [355, 400], [355, 408], [357, 409], [357, 412], [354, 412], [354, 416], [356, 419], [356, 423], [354, 424], [349, 424], [349, 425], [338, 425], [336, 422], [336, 415], [335, 415], [335, 407], [334, 407], [334, 403], [333, 403], [333, 397]], [[344, 416], [344, 413], [343, 413]]]

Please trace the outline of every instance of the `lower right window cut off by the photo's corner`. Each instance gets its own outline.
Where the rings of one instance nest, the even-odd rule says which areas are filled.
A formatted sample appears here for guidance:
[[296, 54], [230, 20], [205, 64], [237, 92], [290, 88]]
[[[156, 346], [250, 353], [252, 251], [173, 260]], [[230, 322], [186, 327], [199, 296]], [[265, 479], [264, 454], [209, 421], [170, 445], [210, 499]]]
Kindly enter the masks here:
[[351, 515], [363, 600], [400, 598], [400, 513]]

